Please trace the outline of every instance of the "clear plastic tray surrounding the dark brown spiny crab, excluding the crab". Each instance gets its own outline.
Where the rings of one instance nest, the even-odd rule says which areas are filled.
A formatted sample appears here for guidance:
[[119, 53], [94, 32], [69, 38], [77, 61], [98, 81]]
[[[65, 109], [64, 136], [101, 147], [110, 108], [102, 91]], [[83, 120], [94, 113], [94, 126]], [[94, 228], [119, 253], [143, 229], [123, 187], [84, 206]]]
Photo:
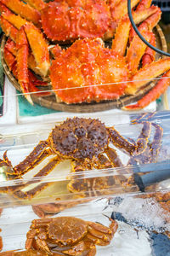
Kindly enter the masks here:
[[[71, 172], [71, 159], [67, 158], [67, 160], [59, 162], [59, 165], [55, 166], [53, 172], [50, 172], [47, 176], [40, 177], [39, 174], [37, 177], [34, 177], [40, 170], [45, 171], [44, 166], [56, 156], [55, 154], [45, 158], [31, 171], [26, 172], [21, 179], [11, 180], [5, 175], [7, 166], [2, 162], [0, 207], [40, 204], [53, 201], [59, 203], [77, 201], [79, 203], [80, 200], [87, 201], [96, 197], [105, 197], [106, 195], [136, 193], [144, 189], [155, 191], [166, 188], [167, 183], [164, 186], [162, 181], [170, 177], [170, 113], [145, 113], [140, 116], [133, 115], [131, 118], [136, 119], [137, 124], [127, 123], [115, 125], [114, 127], [120, 136], [125, 137], [126, 143], [134, 145], [143, 141], [139, 135], [141, 136], [141, 131], [146, 131], [143, 130], [145, 125], [149, 125], [150, 136], [145, 144], [146, 147], [144, 146], [145, 149], [142, 149], [143, 153], [139, 147], [139, 156], [137, 156], [136, 160], [131, 158], [129, 163], [130, 156], [127, 154], [127, 151], [123, 150], [122, 152], [120, 148], [110, 143], [110, 147], [116, 149], [116, 153], [122, 161], [122, 164], [117, 161], [115, 163], [116, 167], [111, 166], [111, 162], [107, 160], [108, 165], [101, 165], [99, 167], [90, 167], [88, 165], [85, 171], [83, 171], [83, 168], [81, 169], [80, 165], [77, 171]], [[103, 118], [100, 116], [99, 119], [105, 121], [107, 127], [114, 125], [114, 117], [112, 115]], [[2, 134], [0, 158], [3, 159], [3, 154], [7, 150], [8, 160], [12, 162], [12, 166], [19, 164], [20, 161], [24, 160], [31, 153], [37, 143], [48, 139], [48, 135], [55, 125], [60, 125], [59, 120], [57, 123], [8, 126], [6, 129], [3, 128], [0, 131]], [[160, 140], [158, 140], [158, 137], [160, 137]], [[143, 147], [143, 144], [140, 145]], [[153, 157], [148, 159], [147, 157], [153, 148], [155, 148], [153, 150]], [[150, 150], [147, 151], [148, 149]], [[100, 160], [102, 161], [102, 158]], [[130, 166], [127, 166], [127, 163]], [[74, 166], [75, 161], [72, 164]], [[9, 169], [11, 171], [12, 167]], [[73, 180], [74, 185], [71, 183]], [[29, 183], [29, 186], [26, 183], [27, 185]], [[142, 185], [142, 183], [144, 184]], [[20, 185], [23, 186], [22, 189], [18, 188]], [[37, 195], [31, 196], [30, 192], [33, 190], [30, 191], [30, 189], [37, 188], [37, 186], [39, 188], [42, 186], [42, 191], [37, 193]], [[68, 186], [70, 189], [68, 189]], [[18, 192], [13, 193], [12, 190]], [[20, 190], [22, 192], [28, 192], [29, 190], [30, 192], [27, 194], [29, 196], [26, 196], [26, 193], [20, 194]]]

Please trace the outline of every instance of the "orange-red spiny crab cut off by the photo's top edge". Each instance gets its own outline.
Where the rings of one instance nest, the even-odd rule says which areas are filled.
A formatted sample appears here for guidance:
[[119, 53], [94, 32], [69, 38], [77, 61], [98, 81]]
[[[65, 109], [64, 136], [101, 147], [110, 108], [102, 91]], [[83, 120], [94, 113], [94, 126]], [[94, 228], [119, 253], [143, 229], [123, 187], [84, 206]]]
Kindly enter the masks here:
[[[127, 14], [127, 0], [55, 0], [49, 3], [26, 0], [27, 4], [20, 0], [1, 0], [0, 3], [41, 26], [50, 40], [62, 42], [77, 38], [112, 38], [119, 20]], [[141, 10], [147, 15], [151, 10], [156, 11], [155, 6], [150, 8], [150, 3], [151, 0], [133, 0], [132, 8], [138, 6], [138, 16]], [[3, 14], [3, 18], [10, 22], [7, 14]], [[21, 21], [22, 25], [26, 20]]]

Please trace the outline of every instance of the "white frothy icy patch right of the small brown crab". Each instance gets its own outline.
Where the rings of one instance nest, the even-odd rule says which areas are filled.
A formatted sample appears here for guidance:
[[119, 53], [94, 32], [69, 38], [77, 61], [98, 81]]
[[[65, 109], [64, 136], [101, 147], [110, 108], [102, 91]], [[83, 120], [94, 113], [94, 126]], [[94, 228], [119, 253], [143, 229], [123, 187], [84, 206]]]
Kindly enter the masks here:
[[170, 230], [170, 224], [167, 223], [170, 214], [154, 198], [125, 196], [119, 204], [116, 203], [116, 199], [111, 200], [110, 207], [113, 212], [122, 213], [128, 224], [136, 225], [141, 229]]

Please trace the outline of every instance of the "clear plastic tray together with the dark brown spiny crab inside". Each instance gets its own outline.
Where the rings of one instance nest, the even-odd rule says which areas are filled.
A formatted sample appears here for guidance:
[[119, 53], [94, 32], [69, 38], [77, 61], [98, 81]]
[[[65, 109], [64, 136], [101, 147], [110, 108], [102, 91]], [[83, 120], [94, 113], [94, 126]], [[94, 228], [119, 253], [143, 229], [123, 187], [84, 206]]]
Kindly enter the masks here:
[[114, 125], [113, 116], [108, 115], [3, 128], [0, 207], [79, 203], [168, 189], [169, 112], [132, 115], [131, 119], [131, 123]]

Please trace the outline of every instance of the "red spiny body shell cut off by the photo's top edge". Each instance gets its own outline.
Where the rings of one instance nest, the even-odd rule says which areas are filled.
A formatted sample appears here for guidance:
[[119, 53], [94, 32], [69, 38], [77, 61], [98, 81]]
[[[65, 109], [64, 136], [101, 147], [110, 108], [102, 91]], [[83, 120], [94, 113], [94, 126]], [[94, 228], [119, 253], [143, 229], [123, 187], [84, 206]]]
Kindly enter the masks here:
[[102, 37], [111, 23], [110, 8], [101, 0], [54, 1], [41, 11], [42, 29], [49, 39]]

